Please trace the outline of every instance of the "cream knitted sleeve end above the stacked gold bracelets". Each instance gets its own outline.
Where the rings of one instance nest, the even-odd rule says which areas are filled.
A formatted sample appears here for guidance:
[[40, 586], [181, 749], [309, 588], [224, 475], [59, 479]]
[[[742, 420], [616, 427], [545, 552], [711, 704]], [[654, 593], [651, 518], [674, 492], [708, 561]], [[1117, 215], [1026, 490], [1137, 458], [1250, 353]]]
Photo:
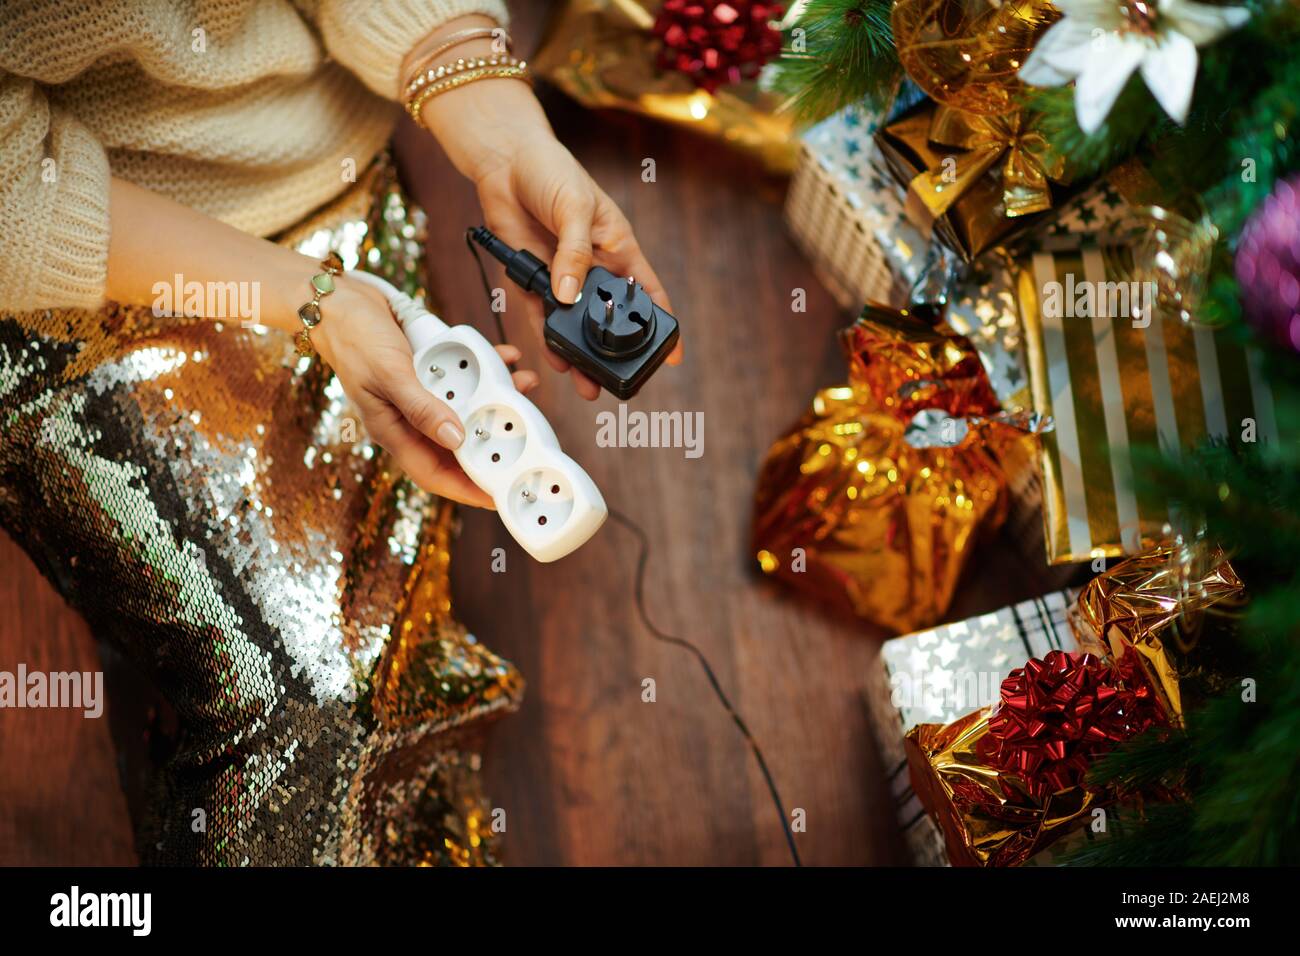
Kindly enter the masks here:
[[502, 26], [504, 0], [321, 0], [325, 48], [385, 99], [400, 95], [402, 61], [415, 46], [456, 17], [482, 13]]

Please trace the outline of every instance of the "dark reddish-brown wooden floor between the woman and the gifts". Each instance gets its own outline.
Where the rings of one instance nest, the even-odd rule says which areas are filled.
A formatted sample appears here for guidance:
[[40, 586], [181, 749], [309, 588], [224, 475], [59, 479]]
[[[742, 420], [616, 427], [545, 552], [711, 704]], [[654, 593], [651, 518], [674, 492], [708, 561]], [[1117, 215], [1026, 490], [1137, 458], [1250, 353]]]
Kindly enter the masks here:
[[[610, 505], [650, 536], [650, 614], [712, 662], [763, 747], [785, 813], [805, 812], [803, 861], [897, 862], [863, 702], [880, 636], [755, 579], [748, 549], [758, 464], [812, 392], [842, 378], [833, 333], [845, 316], [786, 237], [780, 181], [688, 133], [558, 98], [547, 104], [560, 138], [636, 225], [681, 321], [685, 363], [658, 372], [634, 407], [703, 412], [705, 454], [597, 447], [595, 415], [616, 403], [582, 402], [549, 369], [533, 397]], [[430, 209], [433, 285], [446, 315], [489, 332], [462, 239], [480, 221], [473, 194], [413, 130], [400, 144]], [[654, 183], [641, 181], [645, 157], [655, 159]], [[807, 293], [803, 313], [790, 310], [796, 289]], [[507, 328], [542, 368], [508, 313]], [[506, 574], [490, 572], [498, 546]], [[1013, 553], [991, 549], [954, 617], [1043, 589]], [[698, 662], [638, 620], [636, 559], [634, 538], [612, 522], [543, 566], [495, 516], [464, 518], [458, 613], [529, 680], [523, 710], [493, 728], [485, 753], [489, 793], [507, 814], [507, 861], [789, 862], [757, 763]], [[94, 667], [84, 624], [8, 540], [0, 598], [0, 666]], [[647, 678], [655, 702], [642, 702]], [[0, 864], [133, 860], [105, 722], [0, 713]]]

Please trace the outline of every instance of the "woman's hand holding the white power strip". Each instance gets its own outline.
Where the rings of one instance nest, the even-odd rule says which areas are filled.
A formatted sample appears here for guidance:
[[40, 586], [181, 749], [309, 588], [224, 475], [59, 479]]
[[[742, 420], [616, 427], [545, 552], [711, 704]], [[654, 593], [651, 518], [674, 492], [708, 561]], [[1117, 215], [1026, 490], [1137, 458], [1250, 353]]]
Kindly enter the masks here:
[[[451, 454], [465, 440], [464, 425], [416, 378], [411, 346], [384, 295], [341, 276], [338, 289], [321, 303], [321, 313], [312, 343], [356, 403], [370, 437], [426, 492], [493, 507]], [[514, 346], [497, 346], [497, 352], [506, 364], [519, 362]], [[512, 377], [524, 393], [538, 384], [536, 372]]]

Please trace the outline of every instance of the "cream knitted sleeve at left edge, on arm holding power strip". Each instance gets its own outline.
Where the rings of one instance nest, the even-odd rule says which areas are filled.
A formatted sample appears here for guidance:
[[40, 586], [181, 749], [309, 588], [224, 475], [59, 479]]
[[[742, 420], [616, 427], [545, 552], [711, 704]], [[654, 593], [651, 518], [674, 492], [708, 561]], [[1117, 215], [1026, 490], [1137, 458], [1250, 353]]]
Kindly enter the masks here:
[[108, 183], [99, 140], [32, 81], [0, 72], [0, 311], [100, 304]]

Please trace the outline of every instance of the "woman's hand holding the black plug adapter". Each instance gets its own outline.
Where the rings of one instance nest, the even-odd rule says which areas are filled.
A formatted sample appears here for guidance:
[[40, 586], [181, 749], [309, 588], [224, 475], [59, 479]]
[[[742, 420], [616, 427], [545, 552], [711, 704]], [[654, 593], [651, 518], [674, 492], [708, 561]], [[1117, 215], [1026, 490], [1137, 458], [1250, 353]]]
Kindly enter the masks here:
[[[618, 274], [634, 276], [651, 299], [672, 311], [627, 217], [555, 138], [525, 83], [517, 79], [467, 83], [432, 98], [422, 118], [456, 169], [478, 190], [488, 228], [515, 248], [528, 248], [551, 260], [551, 291], [556, 299], [573, 302], [594, 263]], [[523, 298], [540, 337], [542, 304], [532, 295]], [[556, 371], [569, 367], [555, 352], [543, 351]], [[679, 339], [668, 364], [679, 364], [681, 351]], [[572, 373], [582, 398], [594, 399], [599, 394], [595, 382], [577, 369]]]

